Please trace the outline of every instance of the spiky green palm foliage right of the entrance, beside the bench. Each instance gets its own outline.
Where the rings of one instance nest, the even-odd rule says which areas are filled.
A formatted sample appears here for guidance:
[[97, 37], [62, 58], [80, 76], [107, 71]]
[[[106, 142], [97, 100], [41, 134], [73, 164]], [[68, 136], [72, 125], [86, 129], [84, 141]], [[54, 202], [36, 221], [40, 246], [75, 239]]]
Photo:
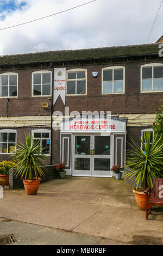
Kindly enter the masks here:
[[127, 150], [126, 167], [131, 170], [124, 175], [125, 178], [136, 182], [136, 190], [142, 181], [143, 190], [148, 186], [153, 188], [152, 179], [161, 177], [163, 168], [163, 144], [160, 144], [161, 137], [155, 136], [151, 143], [151, 133], [147, 132], [144, 139], [141, 138], [142, 148], [131, 138], [130, 149]]

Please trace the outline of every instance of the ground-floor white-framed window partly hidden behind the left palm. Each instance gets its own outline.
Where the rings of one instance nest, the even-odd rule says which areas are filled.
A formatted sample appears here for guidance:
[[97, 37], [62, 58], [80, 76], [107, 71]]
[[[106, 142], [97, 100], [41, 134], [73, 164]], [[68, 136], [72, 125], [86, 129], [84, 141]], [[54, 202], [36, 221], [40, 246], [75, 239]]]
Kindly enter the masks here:
[[33, 143], [40, 139], [41, 153], [51, 154], [51, 131], [47, 129], [37, 129], [32, 131]]

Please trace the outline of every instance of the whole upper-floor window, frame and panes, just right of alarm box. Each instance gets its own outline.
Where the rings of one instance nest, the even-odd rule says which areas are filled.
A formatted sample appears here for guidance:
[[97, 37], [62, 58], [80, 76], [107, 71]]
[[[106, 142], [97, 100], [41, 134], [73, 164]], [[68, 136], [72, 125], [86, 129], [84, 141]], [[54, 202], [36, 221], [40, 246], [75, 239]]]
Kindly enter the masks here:
[[102, 69], [102, 94], [117, 94], [125, 91], [124, 66], [109, 66]]

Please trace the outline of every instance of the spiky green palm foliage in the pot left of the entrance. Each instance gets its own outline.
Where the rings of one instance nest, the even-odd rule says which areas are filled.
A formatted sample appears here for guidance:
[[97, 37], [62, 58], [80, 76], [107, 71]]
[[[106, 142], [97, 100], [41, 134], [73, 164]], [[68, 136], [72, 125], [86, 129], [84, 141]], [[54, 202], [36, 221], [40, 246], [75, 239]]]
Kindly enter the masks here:
[[[35, 173], [35, 177], [38, 175], [45, 176], [44, 172], [47, 172], [45, 166], [43, 166], [43, 161], [48, 157], [41, 153], [40, 139], [33, 143], [33, 137], [30, 133], [24, 133], [26, 142], [20, 142], [20, 145], [17, 145], [16, 154], [12, 156], [13, 161], [15, 162], [14, 174], [20, 176], [21, 179], [32, 180], [32, 173]], [[45, 150], [43, 148], [42, 150]]]

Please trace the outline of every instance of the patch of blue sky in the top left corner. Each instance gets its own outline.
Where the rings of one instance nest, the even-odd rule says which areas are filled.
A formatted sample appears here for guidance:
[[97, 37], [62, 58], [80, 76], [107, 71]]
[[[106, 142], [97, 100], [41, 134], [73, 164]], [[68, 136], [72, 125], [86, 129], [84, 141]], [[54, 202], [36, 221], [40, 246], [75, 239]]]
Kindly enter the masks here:
[[11, 15], [16, 10], [23, 10], [27, 5], [28, 3], [26, 1], [0, 0], [0, 20], [5, 20], [8, 15]]

